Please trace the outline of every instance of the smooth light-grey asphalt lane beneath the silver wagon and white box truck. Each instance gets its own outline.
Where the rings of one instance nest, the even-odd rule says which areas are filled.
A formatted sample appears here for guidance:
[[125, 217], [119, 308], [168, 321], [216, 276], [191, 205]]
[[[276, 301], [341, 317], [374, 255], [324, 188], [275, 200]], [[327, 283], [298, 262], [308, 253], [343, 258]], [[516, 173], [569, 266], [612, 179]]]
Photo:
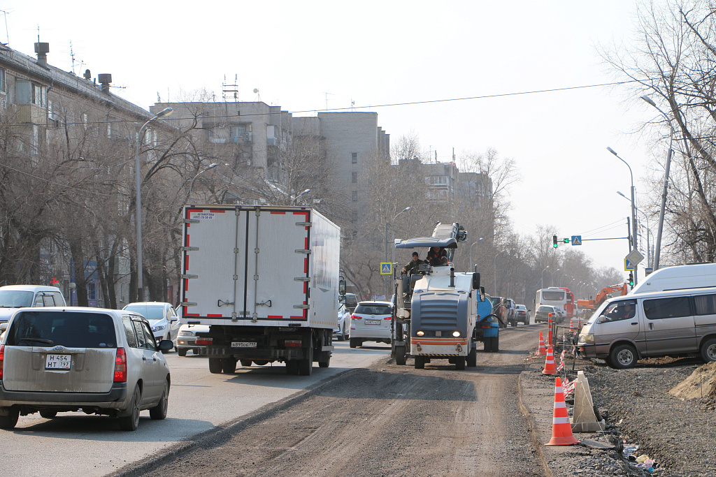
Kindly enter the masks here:
[[350, 349], [334, 343], [330, 368], [314, 363], [311, 376], [287, 375], [284, 365], [238, 367], [235, 375], [211, 374], [206, 358], [165, 355], [172, 375], [164, 421], [142, 411], [139, 429], [120, 431], [105, 416], [61, 413], [52, 420], [21, 416], [16, 428], [0, 431], [5, 476], [105, 476], [198, 433], [314, 387], [351, 368], [368, 367], [390, 355], [390, 347]]

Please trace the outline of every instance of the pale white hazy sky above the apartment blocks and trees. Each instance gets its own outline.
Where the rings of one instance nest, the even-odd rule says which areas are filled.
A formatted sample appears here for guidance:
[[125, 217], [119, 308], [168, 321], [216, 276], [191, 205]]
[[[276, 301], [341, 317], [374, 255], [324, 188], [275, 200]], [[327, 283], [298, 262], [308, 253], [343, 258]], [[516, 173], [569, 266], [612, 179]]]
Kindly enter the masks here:
[[[125, 87], [114, 92], [145, 109], [158, 95], [178, 101], [197, 89], [221, 99], [224, 78], [238, 75], [240, 101], [256, 100], [257, 88], [263, 102], [302, 116], [352, 101], [365, 107], [611, 82], [596, 45], [629, 45], [635, 3], [5, 0], [0, 41], [34, 55], [39, 29], [48, 62], [67, 71], [72, 42], [78, 76], [111, 73], [113, 86]], [[453, 147], [458, 157], [494, 148], [515, 159], [522, 180], [510, 191], [511, 218], [523, 235], [537, 225], [553, 225], [559, 237], [627, 234], [631, 206], [616, 191], [629, 196], [629, 170], [607, 146], [632, 166], [639, 207], [658, 201], [642, 180], [650, 169], [661, 177], [654, 158], [663, 159], [667, 144], [633, 134], [654, 109], [621, 87], [367, 110], [378, 112], [393, 139], [415, 132], [442, 162]], [[581, 250], [597, 267], [623, 270], [628, 246], [588, 241]]]

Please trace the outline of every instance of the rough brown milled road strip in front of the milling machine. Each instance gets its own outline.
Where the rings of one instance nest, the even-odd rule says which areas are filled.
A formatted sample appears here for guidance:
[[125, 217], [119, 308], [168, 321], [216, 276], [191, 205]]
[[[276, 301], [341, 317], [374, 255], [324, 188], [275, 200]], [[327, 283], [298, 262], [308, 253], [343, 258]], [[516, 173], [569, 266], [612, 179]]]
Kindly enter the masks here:
[[543, 476], [518, 405], [535, 338], [533, 326], [500, 330], [500, 353], [478, 353], [465, 371], [387, 359], [354, 370], [146, 475]]

